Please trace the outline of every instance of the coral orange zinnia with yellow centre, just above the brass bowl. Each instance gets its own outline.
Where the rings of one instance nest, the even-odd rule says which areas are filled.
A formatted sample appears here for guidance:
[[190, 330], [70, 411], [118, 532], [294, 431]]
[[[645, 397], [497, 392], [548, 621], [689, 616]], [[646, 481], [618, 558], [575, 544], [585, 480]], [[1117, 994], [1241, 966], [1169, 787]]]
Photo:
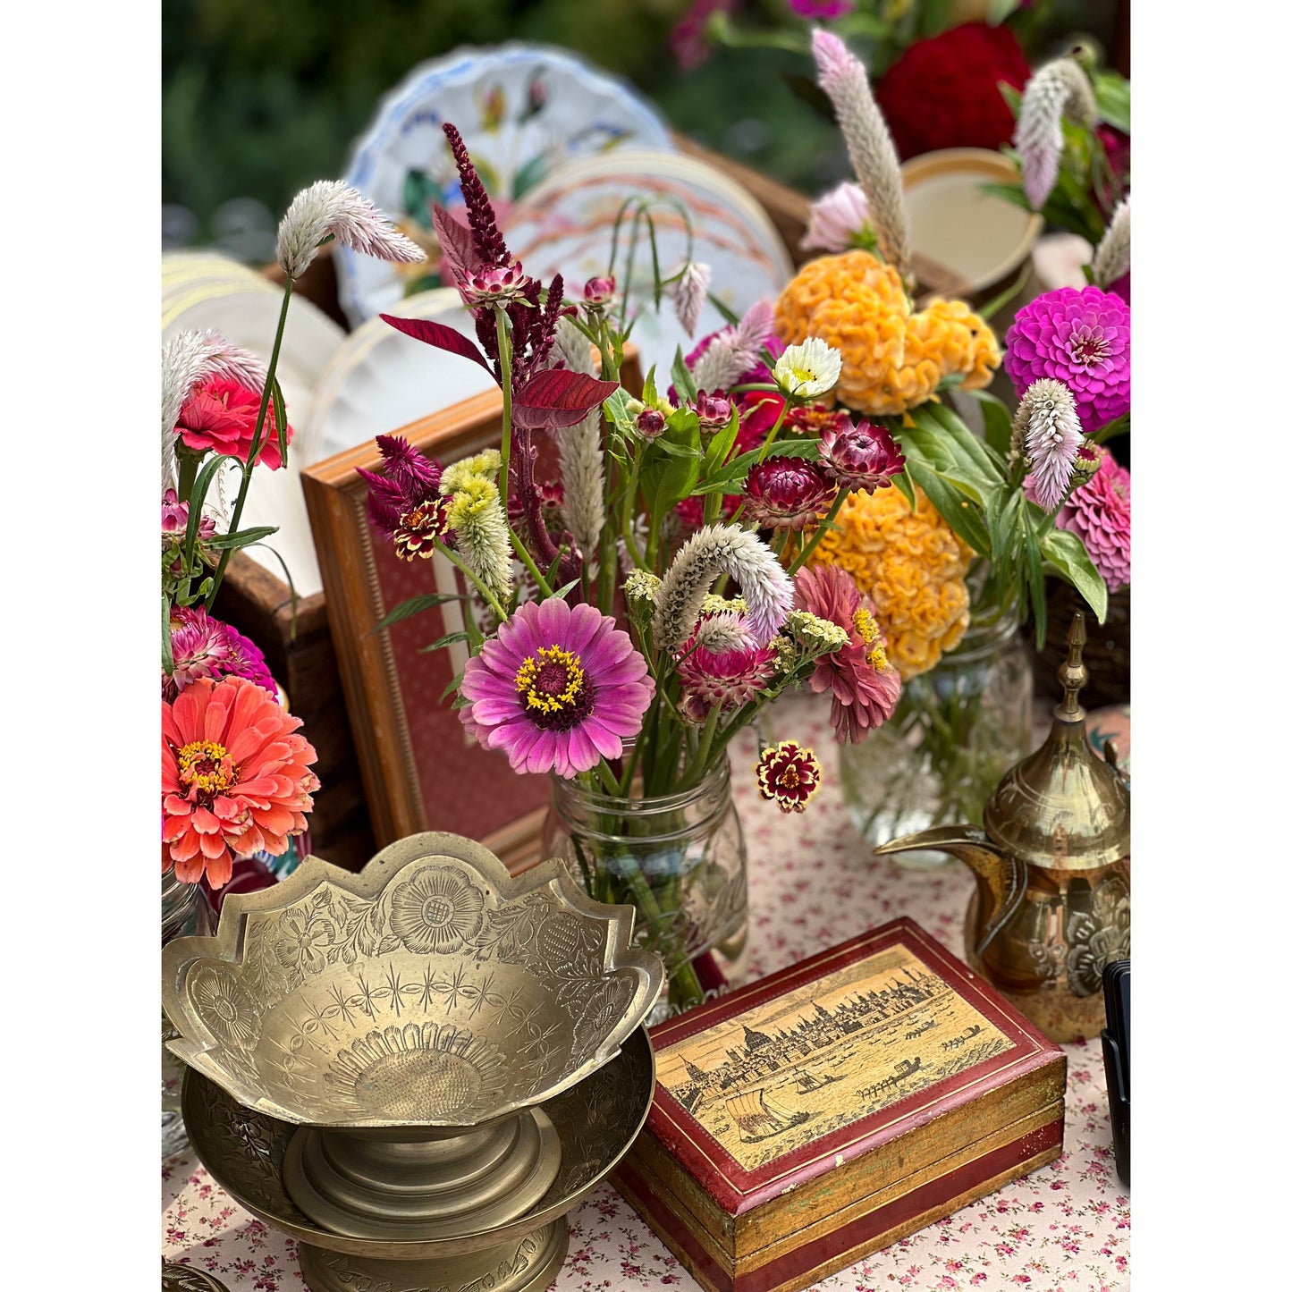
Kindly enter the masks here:
[[278, 855], [314, 806], [317, 755], [300, 718], [243, 677], [200, 678], [162, 704], [162, 870], [212, 888], [233, 858]]

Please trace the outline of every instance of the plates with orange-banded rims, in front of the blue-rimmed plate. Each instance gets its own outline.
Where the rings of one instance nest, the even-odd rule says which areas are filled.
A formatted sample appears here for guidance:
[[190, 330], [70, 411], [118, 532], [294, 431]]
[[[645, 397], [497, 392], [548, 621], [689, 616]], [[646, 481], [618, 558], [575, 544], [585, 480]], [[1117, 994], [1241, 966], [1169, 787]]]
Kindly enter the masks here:
[[[775, 226], [740, 185], [695, 158], [647, 149], [584, 158], [553, 172], [512, 213], [508, 247], [526, 273], [547, 282], [559, 271], [567, 291], [575, 291], [607, 271], [615, 222], [629, 198], [652, 199], [650, 214], [660, 273], [669, 276], [687, 257], [702, 261], [713, 271], [711, 293], [734, 314], [743, 314], [761, 298], [774, 301], [793, 275]], [[632, 220], [625, 220], [620, 227], [615, 257], [620, 289], [628, 275], [630, 225]], [[647, 304], [638, 314], [632, 340], [641, 351], [643, 370], [655, 364], [667, 373], [678, 346], [689, 351], [695, 337], [725, 327], [726, 319], [708, 301], [695, 337], [687, 336], [667, 301], [658, 313], [650, 305], [652, 276], [650, 239], [641, 226], [628, 284], [629, 304]]]

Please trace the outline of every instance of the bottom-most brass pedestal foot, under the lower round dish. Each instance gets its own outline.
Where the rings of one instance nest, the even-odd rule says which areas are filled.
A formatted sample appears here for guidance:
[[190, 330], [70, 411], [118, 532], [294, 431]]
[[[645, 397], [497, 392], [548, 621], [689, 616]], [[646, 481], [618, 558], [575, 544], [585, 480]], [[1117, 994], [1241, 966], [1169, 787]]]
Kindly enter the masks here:
[[391, 1261], [297, 1243], [310, 1292], [541, 1292], [570, 1247], [563, 1216], [521, 1239], [437, 1260]]

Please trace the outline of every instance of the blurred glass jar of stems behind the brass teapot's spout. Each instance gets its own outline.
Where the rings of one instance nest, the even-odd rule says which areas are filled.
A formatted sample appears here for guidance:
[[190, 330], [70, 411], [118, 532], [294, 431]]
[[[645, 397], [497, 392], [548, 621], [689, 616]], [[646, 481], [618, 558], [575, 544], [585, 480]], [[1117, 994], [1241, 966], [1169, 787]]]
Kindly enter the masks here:
[[[975, 615], [960, 645], [902, 685], [893, 717], [840, 747], [848, 811], [870, 846], [930, 826], [982, 824], [1000, 778], [1032, 747], [1032, 674], [1018, 616]], [[944, 866], [946, 853], [893, 858]]]

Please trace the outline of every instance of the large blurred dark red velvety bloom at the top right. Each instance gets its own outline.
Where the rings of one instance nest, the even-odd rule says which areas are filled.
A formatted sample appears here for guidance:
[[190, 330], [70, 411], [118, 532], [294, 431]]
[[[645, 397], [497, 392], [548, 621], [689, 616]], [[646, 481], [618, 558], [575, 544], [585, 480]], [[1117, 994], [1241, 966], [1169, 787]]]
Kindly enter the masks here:
[[903, 158], [995, 150], [1014, 133], [1014, 115], [996, 87], [1022, 89], [1030, 75], [1008, 27], [966, 22], [911, 45], [875, 87], [875, 101]]

